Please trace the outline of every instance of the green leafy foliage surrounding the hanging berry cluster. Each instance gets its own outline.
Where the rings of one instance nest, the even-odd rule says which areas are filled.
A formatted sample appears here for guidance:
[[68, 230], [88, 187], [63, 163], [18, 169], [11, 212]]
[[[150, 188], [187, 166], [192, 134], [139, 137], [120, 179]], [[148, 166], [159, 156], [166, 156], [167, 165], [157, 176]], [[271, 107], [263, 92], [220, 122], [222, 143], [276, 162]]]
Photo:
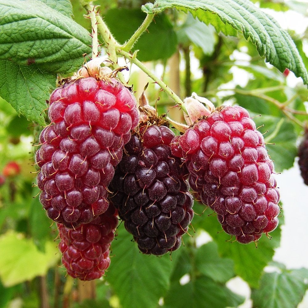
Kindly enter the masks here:
[[[162, 75], [171, 87], [175, 76], [170, 74], [168, 60], [180, 51], [180, 93], [188, 93], [190, 83], [192, 91], [213, 100], [217, 107], [227, 102], [247, 108], [264, 134], [275, 171], [292, 167], [298, 136], [307, 119], [304, 102], [308, 92], [301, 83], [290, 87], [281, 72], [288, 67], [304, 83], [308, 82], [303, 36], [290, 32], [293, 43], [272, 17], [248, 0], [156, 0], [140, 10], [144, 2], [98, 0], [94, 4], [99, 6], [106, 27], [116, 39], [112, 41], [115, 59], [122, 57], [121, 51], [128, 51], [122, 44], [149, 18], [144, 12], [150, 17], [155, 14], [125, 59], [128, 65], [136, 64], [136, 59], [152, 61], [147, 67], [155, 74], [159, 71], [159, 76], [152, 77], [154, 83], [148, 87], [147, 95], [153, 102], [157, 100], [160, 114], [169, 112], [169, 106], [175, 103], [167, 91], [159, 92], [155, 83]], [[239, 276], [252, 290], [254, 307], [296, 307], [308, 289], [307, 269], [287, 270], [278, 265], [277, 272], [265, 272], [266, 266], [273, 264], [275, 249], [280, 245], [284, 217], [279, 217], [278, 228], [270, 233], [272, 238], [263, 234], [257, 247], [255, 243], [242, 245], [222, 232], [215, 213], [204, 211], [204, 205], [197, 201], [195, 213], [204, 213], [195, 215], [193, 228], [188, 231], [190, 236], [184, 235], [183, 245], [170, 255], [140, 253], [122, 223], [111, 245], [111, 265], [94, 286], [96, 299], [75, 302], [79, 287], [83, 286], [55, 266], [61, 256], [55, 241], [56, 225], [42, 209], [39, 197], [33, 199], [39, 189], [32, 187], [35, 175], [30, 171], [36, 169], [31, 166], [34, 155], [29, 154], [33, 149], [28, 145], [38, 139], [40, 126], [46, 125], [46, 100], [56, 86], [56, 75], [71, 74], [82, 65], [84, 53], [91, 56], [91, 23], [83, 16], [87, 14], [83, 6], [89, 3], [0, 0], [0, 173], [10, 160], [17, 160], [22, 167], [20, 175], [6, 179], [0, 187], [0, 308], [7, 308], [14, 298], [22, 298], [25, 308], [42, 306], [38, 290], [42, 285], [35, 279], [38, 275], [47, 280], [45, 292], [51, 296], [51, 306], [237, 307], [244, 298], [231, 291], [227, 283]], [[298, 1], [259, 3], [260, 7], [279, 11], [291, 7], [303, 12], [307, 8], [307, 4]], [[105, 56], [112, 48], [109, 49], [109, 41], [102, 40], [100, 32], [101, 54]], [[247, 59], [237, 60], [238, 53]], [[188, 64], [195, 65], [194, 61], [198, 62], [198, 72], [183, 69], [182, 64], [188, 70]], [[234, 68], [248, 74], [247, 84], [234, 83]], [[195, 73], [201, 77], [196, 79]], [[129, 83], [143, 88], [143, 78], [134, 71]], [[220, 91], [223, 88], [229, 91]], [[277, 180], [279, 183], [279, 176]], [[199, 246], [200, 234], [204, 232], [210, 241]]]

